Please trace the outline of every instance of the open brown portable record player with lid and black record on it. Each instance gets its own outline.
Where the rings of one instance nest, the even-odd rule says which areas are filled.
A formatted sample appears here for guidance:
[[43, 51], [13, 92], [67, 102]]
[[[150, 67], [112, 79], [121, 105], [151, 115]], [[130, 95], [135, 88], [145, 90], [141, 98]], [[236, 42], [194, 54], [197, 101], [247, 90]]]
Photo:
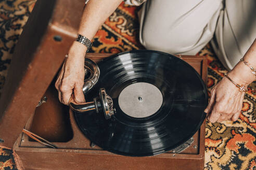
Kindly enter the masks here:
[[[74, 112], [59, 103], [54, 77], [76, 36], [82, 3], [37, 0], [0, 99], [0, 145], [14, 149], [25, 169], [203, 169], [203, 56], [88, 53], [100, 70], [86, 92], [91, 104], [73, 105]], [[62, 9], [69, 22], [59, 17]], [[93, 110], [79, 112], [84, 107]]]

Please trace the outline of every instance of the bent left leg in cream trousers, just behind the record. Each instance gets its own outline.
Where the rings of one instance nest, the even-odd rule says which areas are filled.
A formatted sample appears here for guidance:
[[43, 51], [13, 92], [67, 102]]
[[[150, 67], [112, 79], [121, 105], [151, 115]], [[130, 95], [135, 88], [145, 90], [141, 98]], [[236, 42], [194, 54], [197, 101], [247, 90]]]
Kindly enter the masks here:
[[[164, 2], [161, 6], [156, 1], [145, 4], [141, 43], [147, 49], [169, 53], [197, 53], [213, 36], [220, 1]], [[174, 5], [185, 5], [186, 9], [177, 10]], [[204, 8], [209, 8], [207, 13]]]

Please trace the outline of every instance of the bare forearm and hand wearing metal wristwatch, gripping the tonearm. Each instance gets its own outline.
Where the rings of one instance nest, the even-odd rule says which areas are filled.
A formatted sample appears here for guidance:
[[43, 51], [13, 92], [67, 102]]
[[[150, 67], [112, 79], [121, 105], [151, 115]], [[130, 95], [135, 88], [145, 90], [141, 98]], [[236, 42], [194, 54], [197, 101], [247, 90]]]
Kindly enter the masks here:
[[[99, 26], [111, 15], [122, 0], [91, 0], [87, 3], [83, 11], [78, 34], [92, 40]], [[55, 83], [59, 93], [59, 100], [65, 105], [69, 102], [84, 103], [84, 56], [87, 47], [78, 41], [74, 41], [69, 49], [68, 58], [66, 58], [61, 68], [60, 74]], [[74, 94], [74, 95], [72, 95]]]

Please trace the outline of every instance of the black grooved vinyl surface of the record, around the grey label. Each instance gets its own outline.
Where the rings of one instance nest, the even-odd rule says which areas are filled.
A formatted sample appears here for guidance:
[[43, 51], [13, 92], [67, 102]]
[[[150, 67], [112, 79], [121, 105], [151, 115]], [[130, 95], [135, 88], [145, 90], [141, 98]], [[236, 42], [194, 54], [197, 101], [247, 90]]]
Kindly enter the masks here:
[[[117, 112], [111, 120], [96, 112], [74, 112], [74, 116], [84, 135], [99, 147], [122, 155], [155, 155], [182, 145], [199, 130], [207, 91], [196, 70], [183, 60], [163, 52], [136, 50], [112, 55], [98, 66], [99, 81], [86, 94], [86, 101], [105, 88]], [[160, 109], [146, 118], [130, 117], [118, 104], [121, 91], [136, 82], [151, 83], [163, 95]]]

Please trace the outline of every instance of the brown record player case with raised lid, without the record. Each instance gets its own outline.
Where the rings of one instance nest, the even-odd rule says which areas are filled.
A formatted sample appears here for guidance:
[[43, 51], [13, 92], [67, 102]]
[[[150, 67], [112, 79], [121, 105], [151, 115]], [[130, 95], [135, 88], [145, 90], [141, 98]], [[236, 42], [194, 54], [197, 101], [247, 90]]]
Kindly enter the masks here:
[[[80, 132], [72, 112], [58, 102], [54, 77], [76, 36], [82, 10], [80, 0], [37, 0], [0, 98], [0, 146], [14, 149], [24, 169], [203, 169], [205, 122], [183, 152], [152, 157], [110, 153], [91, 145]], [[96, 62], [109, 55], [86, 54]], [[183, 55], [182, 59], [207, 81], [204, 56]], [[43, 96], [47, 102], [36, 108]], [[21, 133], [23, 128], [52, 141], [58, 149], [29, 139]]]

